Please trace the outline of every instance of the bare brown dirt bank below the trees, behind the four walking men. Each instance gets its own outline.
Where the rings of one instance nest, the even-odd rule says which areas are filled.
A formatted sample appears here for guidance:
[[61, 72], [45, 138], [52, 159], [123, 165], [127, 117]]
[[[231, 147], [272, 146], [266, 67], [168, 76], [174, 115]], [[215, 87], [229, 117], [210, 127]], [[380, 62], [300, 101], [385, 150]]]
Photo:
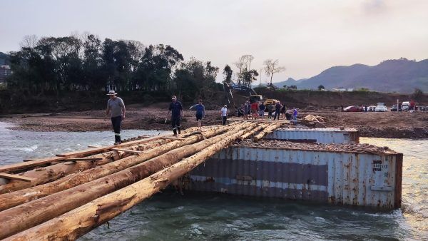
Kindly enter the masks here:
[[[126, 108], [126, 119], [123, 120], [123, 129], [144, 130], [170, 130], [170, 120], [165, 123], [168, 112], [168, 103], [159, 103], [157, 106], [165, 108], [142, 107], [141, 105], [128, 105]], [[186, 108], [187, 107], [187, 108]], [[2, 116], [0, 121], [16, 124], [15, 130], [35, 131], [91, 131], [111, 130], [111, 120], [106, 112], [81, 111], [63, 113], [40, 113], [24, 115]], [[203, 123], [213, 125], [221, 122], [220, 111], [206, 111]], [[195, 112], [188, 111], [185, 106], [184, 117], [181, 121], [183, 128], [197, 125]]]

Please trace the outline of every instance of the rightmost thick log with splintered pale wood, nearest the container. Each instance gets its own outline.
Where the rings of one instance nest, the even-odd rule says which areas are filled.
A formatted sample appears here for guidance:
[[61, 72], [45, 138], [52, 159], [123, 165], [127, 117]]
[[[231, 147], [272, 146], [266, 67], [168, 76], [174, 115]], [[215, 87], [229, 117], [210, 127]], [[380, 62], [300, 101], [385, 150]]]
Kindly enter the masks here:
[[101, 198], [88, 202], [66, 214], [20, 232], [6, 240], [76, 240], [86, 232], [91, 231], [113, 217], [130, 209], [133, 205], [149, 198], [154, 193], [165, 188], [180, 176], [193, 170], [219, 150], [225, 148], [236, 138], [243, 135], [248, 129], [240, 130], [234, 134], [225, 136], [222, 140], [204, 148], [195, 155], [185, 158], [165, 168], [148, 178], [128, 185]]

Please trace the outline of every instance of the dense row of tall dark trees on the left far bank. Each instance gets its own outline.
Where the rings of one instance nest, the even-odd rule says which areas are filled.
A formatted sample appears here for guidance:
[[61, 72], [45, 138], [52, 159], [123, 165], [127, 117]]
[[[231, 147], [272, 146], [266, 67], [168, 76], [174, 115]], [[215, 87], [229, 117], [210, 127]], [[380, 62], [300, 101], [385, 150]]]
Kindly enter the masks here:
[[193, 100], [221, 90], [210, 61], [185, 61], [172, 46], [98, 36], [26, 36], [10, 54], [7, 88], [29, 93], [156, 91]]

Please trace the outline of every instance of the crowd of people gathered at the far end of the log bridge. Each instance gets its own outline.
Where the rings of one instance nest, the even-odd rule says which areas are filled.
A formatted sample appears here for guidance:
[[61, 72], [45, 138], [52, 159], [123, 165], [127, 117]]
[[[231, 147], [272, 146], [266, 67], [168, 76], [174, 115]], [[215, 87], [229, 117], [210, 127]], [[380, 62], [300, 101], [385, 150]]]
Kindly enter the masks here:
[[280, 118], [284, 118], [287, 120], [297, 120], [298, 111], [297, 108], [292, 108], [291, 110], [287, 110], [285, 105], [282, 105], [280, 101], [273, 101], [273, 103], [268, 103], [265, 105], [261, 101], [246, 101], [240, 106], [238, 110], [238, 116], [243, 116], [244, 120], [248, 120], [249, 118], [253, 118], [254, 120], [258, 118], [265, 118], [265, 112], [267, 111], [267, 118], [272, 118], [273, 120], [280, 120]]

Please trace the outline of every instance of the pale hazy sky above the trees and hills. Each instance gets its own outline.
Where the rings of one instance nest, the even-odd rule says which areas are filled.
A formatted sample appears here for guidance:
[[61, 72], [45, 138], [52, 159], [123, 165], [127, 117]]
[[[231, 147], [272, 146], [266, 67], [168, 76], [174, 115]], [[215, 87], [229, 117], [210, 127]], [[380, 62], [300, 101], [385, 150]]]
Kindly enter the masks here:
[[89, 32], [169, 44], [185, 60], [218, 66], [218, 80], [245, 54], [259, 72], [267, 58], [278, 59], [286, 70], [274, 82], [331, 66], [428, 58], [427, 0], [0, 0], [0, 8], [2, 52], [19, 50], [26, 35]]

